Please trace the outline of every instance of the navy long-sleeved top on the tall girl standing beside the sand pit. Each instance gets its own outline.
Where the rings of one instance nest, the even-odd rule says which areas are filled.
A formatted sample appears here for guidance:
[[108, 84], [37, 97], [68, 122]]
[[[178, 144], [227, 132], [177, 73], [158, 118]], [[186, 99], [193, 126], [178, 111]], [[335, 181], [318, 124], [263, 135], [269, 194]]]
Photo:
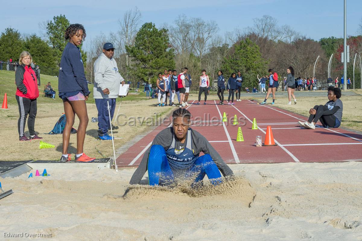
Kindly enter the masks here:
[[89, 95], [80, 50], [70, 42], [64, 48], [60, 59], [58, 88], [59, 96], [67, 92], [82, 92], [85, 96]]

